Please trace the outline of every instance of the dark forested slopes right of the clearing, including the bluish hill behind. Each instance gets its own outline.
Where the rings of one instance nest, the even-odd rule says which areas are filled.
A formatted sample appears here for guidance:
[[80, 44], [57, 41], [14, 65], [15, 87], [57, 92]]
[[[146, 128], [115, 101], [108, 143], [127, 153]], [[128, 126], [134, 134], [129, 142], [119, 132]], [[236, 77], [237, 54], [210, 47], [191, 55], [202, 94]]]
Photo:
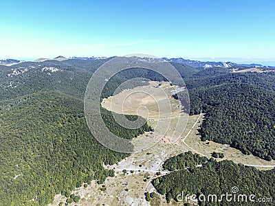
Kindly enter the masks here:
[[190, 115], [206, 113], [199, 133], [241, 150], [275, 159], [275, 72], [201, 70], [186, 78]]

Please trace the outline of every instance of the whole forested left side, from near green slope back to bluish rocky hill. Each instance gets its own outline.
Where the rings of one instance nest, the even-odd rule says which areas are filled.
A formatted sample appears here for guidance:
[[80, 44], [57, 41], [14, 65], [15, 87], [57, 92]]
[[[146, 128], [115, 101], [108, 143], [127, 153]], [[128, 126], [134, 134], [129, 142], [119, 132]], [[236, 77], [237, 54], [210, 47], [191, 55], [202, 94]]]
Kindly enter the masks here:
[[[0, 71], [0, 205], [47, 205], [56, 194], [114, 175], [103, 163], [127, 155], [99, 144], [83, 111], [91, 71], [101, 64], [23, 62]], [[122, 128], [104, 108], [102, 118], [122, 138], [150, 130]]]

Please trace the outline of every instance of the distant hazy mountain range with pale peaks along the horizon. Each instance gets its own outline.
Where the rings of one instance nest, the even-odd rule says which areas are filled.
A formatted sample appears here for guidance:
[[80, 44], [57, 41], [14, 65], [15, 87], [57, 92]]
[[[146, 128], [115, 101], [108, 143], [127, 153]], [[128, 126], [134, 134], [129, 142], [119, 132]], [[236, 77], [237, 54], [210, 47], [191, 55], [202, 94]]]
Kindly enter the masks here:
[[[91, 57], [76, 57], [73, 56], [71, 58], [65, 58], [64, 56], [57, 56], [56, 58], [50, 59], [50, 58], [38, 58], [36, 60], [34, 60], [34, 62], [44, 62], [46, 60], [58, 60], [58, 61], [63, 61], [63, 60], [103, 60], [103, 59], [107, 59], [107, 57], [102, 56], [102, 57], [95, 57], [95, 56], [91, 56]], [[188, 65], [190, 67], [201, 67], [201, 68], [211, 68], [211, 67], [223, 67], [223, 68], [230, 68], [230, 67], [254, 67], [254, 68], [263, 68], [263, 69], [274, 69], [274, 67], [269, 67], [269, 66], [263, 66], [260, 64], [237, 64], [234, 62], [203, 62], [203, 61], [199, 61], [199, 60], [188, 60], [188, 59], [184, 59], [184, 58], [162, 58], [168, 62], [177, 62], [180, 64], [185, 64]], [[14, 60], [14, 59], [5, 59], [5, 60], [0, 60], [0, 65], [6, 65], [6, 66], [11, 66], [11, 65], [16, 65], [20, 62], [24, 62], [24, 61], [20, 61], [20, 60]]]

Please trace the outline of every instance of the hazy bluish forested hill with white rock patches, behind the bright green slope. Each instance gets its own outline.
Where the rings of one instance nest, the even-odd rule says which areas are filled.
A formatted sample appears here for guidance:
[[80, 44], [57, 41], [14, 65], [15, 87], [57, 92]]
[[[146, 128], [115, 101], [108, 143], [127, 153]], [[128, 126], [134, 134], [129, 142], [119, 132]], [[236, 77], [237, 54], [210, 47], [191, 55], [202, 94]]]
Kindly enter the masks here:
[[17, 98], [38, 91], [61, 91], [83, 98], [91, 71], [104, 63], [102, 60], [74, 62], [48, 60], [45, 62], [22, 62], [0, 70], [1, 100]]

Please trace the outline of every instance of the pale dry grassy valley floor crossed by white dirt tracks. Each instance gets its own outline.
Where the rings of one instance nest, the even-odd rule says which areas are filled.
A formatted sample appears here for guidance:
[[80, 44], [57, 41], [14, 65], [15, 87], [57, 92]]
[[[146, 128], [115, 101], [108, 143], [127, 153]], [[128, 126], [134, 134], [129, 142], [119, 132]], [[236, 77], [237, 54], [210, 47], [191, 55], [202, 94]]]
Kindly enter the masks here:
[[[161, 85], [161, 86], [159, 86]], [[232, 160], [234, 163], [251, 165], [259, 170], [271, 170], [275, 167], [275, 161], [265, 161], [253, 155], [243, 155], [235, 148], [225, 144], [218, 144], [214, 141], [201, 141], [198, 129], [203, 121], [203, 113], [184, 117], [181, 113], [181, 103], [175, 100], [168, 93], [173, 89], [168, 82], [149, 82], [148, 86], [126, 89], [116, 95], [102, 100], [102, 106], [109, 111], [127, 115], [140, 115], [148, 119], [148, 124], [155, 128], [154, 132], [144, 133], [133, 141], [140, 139], [154, 139], [157, 134], [157, 122], [159, 121], [159, 104], [164, 103], [168, 98], [171, 111], [165, 108], [166, 113], [161, 119], [179, 119], [181, 124], [186, 124], [186, 129], [179, 139], [173, 138], [171, 131], [175, 131], [177, 124], [170, 122], [169, 128], [164, 137], [154, 146], [146, 150], [136, 152], [114, 165], [104, 165], [108, 170], [114, 170], [115, 176], [108, 177], [102, 184], [92, 181], [87, 187], [76, 188], [74, 194], [80, 195], [80, 202], [76, 205], [149, 205], [145, 200], [144, 192], [156, 192], [151, 181], [157, 176], [169, 174], [162, 168], [164, 161], [175, 155], [191, 151], [201, 156], [212, 157], [212, 152], [223, 152], [224, 159]], [[160, 92], [164, 90], [165, 92]], [[149, 92], [151, 91], [151, 93]], [[146, 110], [140, 110], [140, 108]], [[177, 139], [171, 141], [171, 139]], [[104, 188], [104, 189], [102, 189]], [[65, 203], [65, 196], [56, 195], [54, 203]], [[150, 205], [168, 205], [165, 196], [157, 194], [157, 197], [150, 202]]]

